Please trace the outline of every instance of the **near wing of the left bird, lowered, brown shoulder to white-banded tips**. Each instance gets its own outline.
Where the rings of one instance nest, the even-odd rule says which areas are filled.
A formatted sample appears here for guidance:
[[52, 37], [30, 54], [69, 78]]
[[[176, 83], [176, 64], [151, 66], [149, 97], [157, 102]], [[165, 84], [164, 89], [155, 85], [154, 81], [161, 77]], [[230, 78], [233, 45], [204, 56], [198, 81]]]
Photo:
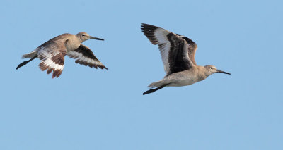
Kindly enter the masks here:
[[47, 70], [47, 74], [53, 71], [52, 77], [59, 77], [64, 68], [64, 57], [66, 55], [65, 41], [52, 41], [42, 44], [37, 49], [37, 56], [40, 58], [40, 69]]

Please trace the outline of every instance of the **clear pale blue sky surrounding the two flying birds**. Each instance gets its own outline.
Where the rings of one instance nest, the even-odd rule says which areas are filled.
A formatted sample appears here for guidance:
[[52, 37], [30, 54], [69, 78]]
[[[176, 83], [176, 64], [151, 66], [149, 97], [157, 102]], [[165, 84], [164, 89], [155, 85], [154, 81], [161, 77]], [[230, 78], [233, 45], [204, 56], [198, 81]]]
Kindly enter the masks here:
[[[1, 1], [0, 149], [283, 149], [282, 1]], [[142, 95], [165, 75], [141, 23], [197, 45], [214, 74]], [[65, 58], [52, 79], [33, 51], [88, 32], [109, 70]]]

